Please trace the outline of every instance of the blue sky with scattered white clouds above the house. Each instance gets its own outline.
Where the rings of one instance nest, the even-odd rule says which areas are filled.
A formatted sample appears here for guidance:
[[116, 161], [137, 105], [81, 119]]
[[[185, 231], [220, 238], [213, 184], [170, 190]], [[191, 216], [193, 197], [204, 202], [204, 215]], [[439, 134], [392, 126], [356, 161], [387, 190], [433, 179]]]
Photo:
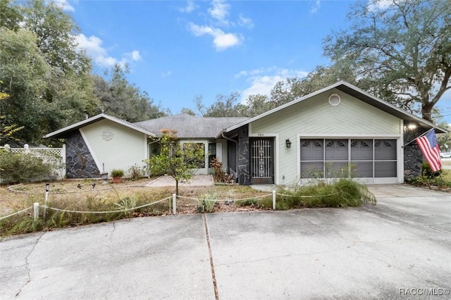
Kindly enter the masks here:
[[[329, 65], [322, 43], [345, 29], [350, 0], [57, 0], [80, 27], [94, 73], [115, 63], [172, 114], [216, 96], [269, 95], [276, 82]], [[440, 100], [451, 123], [451, 95]]]

